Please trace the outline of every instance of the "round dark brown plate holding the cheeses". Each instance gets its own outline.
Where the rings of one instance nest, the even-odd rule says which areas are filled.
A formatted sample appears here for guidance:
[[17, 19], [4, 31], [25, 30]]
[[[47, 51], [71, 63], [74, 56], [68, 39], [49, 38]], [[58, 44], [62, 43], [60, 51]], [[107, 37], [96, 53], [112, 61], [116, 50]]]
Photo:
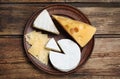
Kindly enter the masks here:
[[[35, 18], [39, 15], [39, 13], [44, 10], [47, 9], [50, 13], [50, 15], [56, 14], [56, 15], [62, 15], [62, 16], [66, 16], [75, 20], [79, 20], [79, 21], [83, 21], [85, 23], [90, 24], [89, 20], [86, 18], [86, 16], [80, 12], [78, 9], [69, 6], [69, 5], [50, 5], [47, 6], [43, 9], [38, 9], [32, 16], [31, 18], [28, 20], [25, 30], [24, 30], [24, 35], [36, 30], [36, 31], [40, 31], [37, 30], [35, 28], [33, 28], [33, 22], [35, 20]], [[57, 23], [54, 19], [53, 19], [56, 27], [58, 28], [58, 30], [60, 31], [60, 35], [54, 35], [48, 32], [43, 32], [49, 35], [49, 37], [54, 37], [56, 40], [59, 40], [61, 38], [68, 38], [68, 39], [72, 39], [67, 32], [65, 32], [65, 30], [63, 28], [61, 28], [61, 26], [59, 25], [59, 23]], [[72, 39], [73, 40], [73, 39]], [[26, 51], [26, 54], [28, 56], [28, 58], [32, 61], [32, 63], [37, 66], [39, 69], [49, 73], [49, 74], [55, 74], [55, 75], [64, 75], [64, 74], [69, 74], [72, 73], [76, 70], [78, 70], [80, 68], [80, 66], [86, 62], [86, 60], [89, 58], [92, 50], [93, 50], [93, 46], [94, 46], [94, 37], [89, 41], [89, 43], [81, 48], [82, 50], [82, 59], [78, 65], [77, 68], [75, 68], [74, 70], [71, 70], [69, 72], [61, 72], [58, 71], [56, 69], [54, 69], [54, 67], [51, 65], [50, 61], [48, 65], [44, 65], [42, 64], [39, 60], [37, 60], [36, 58], [34, 58], [31, 54], [28, 53], [28, 49], [30, 47], [30, 45], [26, 42], [25, 37], [24, 37], [24, 48]], [[62, 64], [62, 62], [61, 62]]]

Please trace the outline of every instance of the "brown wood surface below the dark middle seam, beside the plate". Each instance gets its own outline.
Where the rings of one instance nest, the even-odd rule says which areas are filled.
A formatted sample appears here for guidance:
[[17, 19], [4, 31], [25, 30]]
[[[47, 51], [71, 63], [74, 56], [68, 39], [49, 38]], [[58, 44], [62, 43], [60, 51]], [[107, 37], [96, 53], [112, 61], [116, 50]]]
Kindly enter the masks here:
[[[96, 38], [95, 48], [90, 59], [76, 73], [71, 75], [71, 79], [92, 75], [120, 78], [118, 76], [120, 74], [119, 42], [120, 38]], [[43, 77], [43, 79], [47, 79], [46, 75], [50, 79], [70, 79], [69, 76], [55, 77], [38, 70], [26, 57], [22, 38], [0, 38], [0, 79], [7, 77], [23, 79]], [[112, 79], [112, 77], [108, 78]], [[104, 78], [101, 77], [100, 79]]]

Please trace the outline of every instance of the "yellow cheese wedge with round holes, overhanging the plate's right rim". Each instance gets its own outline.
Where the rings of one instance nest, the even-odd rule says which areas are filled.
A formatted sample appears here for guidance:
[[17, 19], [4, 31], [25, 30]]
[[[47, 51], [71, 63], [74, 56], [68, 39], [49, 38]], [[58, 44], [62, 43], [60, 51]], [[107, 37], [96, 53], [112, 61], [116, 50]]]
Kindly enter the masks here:
[[96, 28], [84, 22], [73, 20], [63, 16], [53, 15], [61, 26], [71, 35], [76, 42], [84, 47], [96, 32]]

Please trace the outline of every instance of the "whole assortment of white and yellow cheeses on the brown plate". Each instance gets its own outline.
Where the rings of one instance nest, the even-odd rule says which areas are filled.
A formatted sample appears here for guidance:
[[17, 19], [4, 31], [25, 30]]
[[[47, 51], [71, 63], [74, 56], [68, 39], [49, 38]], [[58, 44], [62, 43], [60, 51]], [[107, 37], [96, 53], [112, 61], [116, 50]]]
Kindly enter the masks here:
[[[91, 25], [63, 16], [53, 17], [81, 47], [84, 47], [95, 34], [96, 28]], [[70, 39], [55, 41], [54, 38], [42, 33], [41, 30], [60, 34], [46, 9], [36, 17], [33, 27], [40, 29], [39, 32], [32, 31], [25, 35], [26, 41], [30, 44], [28, 52], [31, 55], [45, 65], [48, 65], [50, 60], [53, 67], [62, 72], [71, 71], [79, 65], [81, 49], [76, 42]]]

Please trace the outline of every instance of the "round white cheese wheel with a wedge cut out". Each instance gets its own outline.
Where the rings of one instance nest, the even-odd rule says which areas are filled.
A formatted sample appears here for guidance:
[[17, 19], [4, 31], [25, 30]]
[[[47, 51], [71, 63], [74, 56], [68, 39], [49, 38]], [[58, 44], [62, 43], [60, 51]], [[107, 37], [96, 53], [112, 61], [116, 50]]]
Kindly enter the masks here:
[[64, 54], [50, 51], [49, 58], [52, 65], [63, 72], [75, 69], [81, 60], [81, 51], [79, 46], [69, 39], [61, 39], [58, 41], [58, 44]]

